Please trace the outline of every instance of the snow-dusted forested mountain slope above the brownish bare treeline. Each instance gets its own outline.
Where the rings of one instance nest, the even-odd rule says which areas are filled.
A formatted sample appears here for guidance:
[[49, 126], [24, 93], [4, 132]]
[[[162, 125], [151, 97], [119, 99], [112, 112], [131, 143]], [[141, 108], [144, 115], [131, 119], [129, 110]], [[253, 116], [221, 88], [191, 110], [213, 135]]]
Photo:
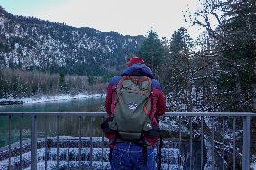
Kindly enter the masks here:
[[119, 71], [143, 40], [14, 16], [0, 7], [0, 65], [7, 67], [100, 76]]

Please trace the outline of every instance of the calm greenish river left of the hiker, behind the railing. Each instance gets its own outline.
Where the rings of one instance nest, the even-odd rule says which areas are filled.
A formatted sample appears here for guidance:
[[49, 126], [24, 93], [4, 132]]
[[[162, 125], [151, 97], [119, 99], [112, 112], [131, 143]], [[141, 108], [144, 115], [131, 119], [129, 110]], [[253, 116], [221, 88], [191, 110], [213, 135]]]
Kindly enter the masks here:
[[[7, 105], [0, 106], [1, 112], [105, 112], [105, 98], [80, 98], [61, 100], [45, 103], [25, 103], [22, 105]], [[21, 120], [22, 119], [22, 120]], [[56, 136], [56, 116], [47, 118], [48, 136]], [[30, 139], [30, 117], [12, 116], [11, 117], [11, 143], [19, 141], [20, 125], [22, 122], [22, 139]], [[89, 120], [87, 117], [82, 117], [81, 120], [82, 136], [87, 136], [89, 133]], [[101, 120], [94, 119], [93, 135], [98, 136], [101, 133], [99, 128]], [[59, 135], [78, 136], [78, 117], [70, 117], [70, 129], [68, 128], [68, 116], [59, 116]], [[45, 134], [45, 117], [38, 116], [38, 137], [44, 137]], [[8, 144], [8, 117], [0, 116], [0, 147]]]

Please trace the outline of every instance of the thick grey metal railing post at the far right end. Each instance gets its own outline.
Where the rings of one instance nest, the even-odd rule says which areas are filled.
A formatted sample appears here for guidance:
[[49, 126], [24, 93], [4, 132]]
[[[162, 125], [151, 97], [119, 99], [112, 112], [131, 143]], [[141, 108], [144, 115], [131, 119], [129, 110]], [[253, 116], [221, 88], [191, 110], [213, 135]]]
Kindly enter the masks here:
[[243, 117], [242, 170], [250, 166], [250, 121], [250, 116]]

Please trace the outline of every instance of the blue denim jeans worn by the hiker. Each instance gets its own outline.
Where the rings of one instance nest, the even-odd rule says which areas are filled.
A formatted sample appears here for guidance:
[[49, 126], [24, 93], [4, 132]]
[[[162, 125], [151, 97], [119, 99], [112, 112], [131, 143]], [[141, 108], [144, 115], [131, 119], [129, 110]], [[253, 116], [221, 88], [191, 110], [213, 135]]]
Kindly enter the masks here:
[[145, 163], [142, 147], [133, 143], [117, 143], [110, 166], [112, 170], [156, 170], [154, 148], [148, 148]]

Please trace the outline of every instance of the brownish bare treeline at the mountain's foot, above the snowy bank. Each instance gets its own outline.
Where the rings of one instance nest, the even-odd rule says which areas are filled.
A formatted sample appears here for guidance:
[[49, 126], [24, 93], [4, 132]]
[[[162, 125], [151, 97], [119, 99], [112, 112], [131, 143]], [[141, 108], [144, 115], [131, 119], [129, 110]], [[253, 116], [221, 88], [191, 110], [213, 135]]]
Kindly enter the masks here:
[[70, 76], [0, 67], [0, 98], [55, 94], [100, 93], [105, 81], [94, 76]]

